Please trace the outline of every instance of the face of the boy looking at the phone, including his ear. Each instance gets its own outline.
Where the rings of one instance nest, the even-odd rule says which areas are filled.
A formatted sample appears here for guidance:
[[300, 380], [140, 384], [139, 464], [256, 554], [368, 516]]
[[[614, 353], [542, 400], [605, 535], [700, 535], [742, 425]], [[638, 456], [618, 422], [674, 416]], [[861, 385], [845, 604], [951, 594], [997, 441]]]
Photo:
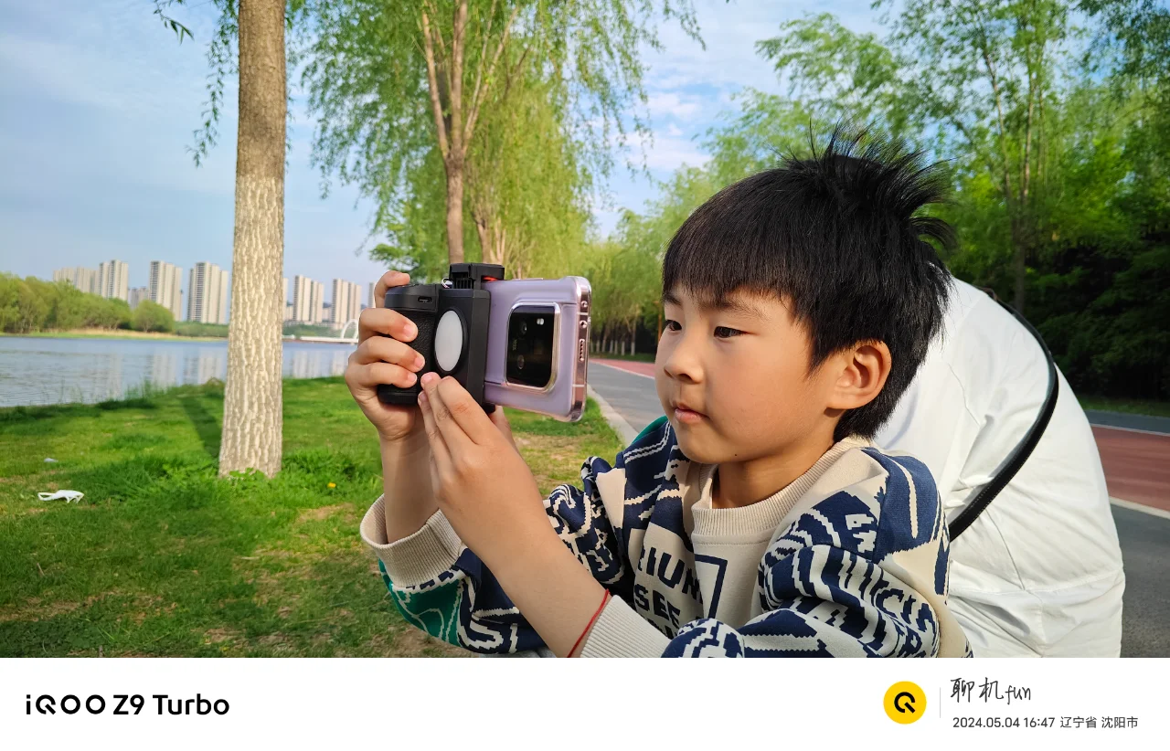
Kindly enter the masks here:
[[737, 290], [711, 306], [663, 296], [654, 360], [659, 400], [691, 461], [744, 462], [786, 453], [825, 428], [835, 373], [808, 372], [808, 333], [780, 298]]

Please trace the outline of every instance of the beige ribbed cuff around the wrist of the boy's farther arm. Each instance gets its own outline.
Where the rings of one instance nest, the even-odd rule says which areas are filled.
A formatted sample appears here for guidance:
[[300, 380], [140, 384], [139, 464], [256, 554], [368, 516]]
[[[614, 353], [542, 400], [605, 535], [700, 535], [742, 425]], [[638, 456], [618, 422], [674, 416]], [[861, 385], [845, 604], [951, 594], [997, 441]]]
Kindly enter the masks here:
[[386, 542], [386, 507], [378, 496], [362, 518], [362, 540], [386, 566], [386, 574], [395, 586], [418, 586], [439, 578], [455, 565], [463, 543], [450, 522], [435, 511], [419, 531], [400, 540]]

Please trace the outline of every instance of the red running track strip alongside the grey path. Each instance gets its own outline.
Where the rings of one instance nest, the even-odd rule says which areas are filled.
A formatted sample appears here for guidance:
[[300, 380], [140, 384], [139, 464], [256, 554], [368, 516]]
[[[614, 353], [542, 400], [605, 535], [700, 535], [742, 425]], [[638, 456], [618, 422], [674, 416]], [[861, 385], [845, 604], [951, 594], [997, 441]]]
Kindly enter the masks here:
[[[593, 359], [594, 363], [654, 377], [653, 363]], [[1170, 435], [1093, 426], [1109, 495], [1170, 511]]]

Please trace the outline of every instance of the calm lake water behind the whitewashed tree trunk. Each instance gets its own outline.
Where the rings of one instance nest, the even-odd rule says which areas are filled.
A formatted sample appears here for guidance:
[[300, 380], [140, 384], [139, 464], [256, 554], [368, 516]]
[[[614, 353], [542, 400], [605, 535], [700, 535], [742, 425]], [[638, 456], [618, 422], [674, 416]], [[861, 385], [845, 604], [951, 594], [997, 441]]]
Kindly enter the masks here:
[[[349, 344], [284, 342], [285, 378], [340, 376]], [[0, 337], [0, 407], [97, 402], [128, 388], [204, 384], [227, 376], [227, 339], [42, 339]]]

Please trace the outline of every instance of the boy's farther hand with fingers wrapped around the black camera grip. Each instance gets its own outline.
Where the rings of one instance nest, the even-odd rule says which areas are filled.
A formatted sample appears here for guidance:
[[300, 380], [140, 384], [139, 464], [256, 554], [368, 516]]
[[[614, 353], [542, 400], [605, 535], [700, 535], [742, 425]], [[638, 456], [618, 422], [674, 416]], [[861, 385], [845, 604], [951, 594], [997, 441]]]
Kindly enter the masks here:
[[[350, 356], [345, 368], [345, 385], [353, 400], [378, 429], [383, 441], [395, 442], [419, 435], [422, 420], [413, 406], [386, 405], [378, 400], [378, 385], [393, 384], [402, 388], [414, 385], [422, 368], [422, 356], [406, 342], [413, 342], [419, 330], [406, 316], [386, 310], [386, 290], [408, 284], [411, 277], [401, 271], [387, 271], [374, 285], [376, 308], [366, 308], [358, 318], [358, 349]], [[386, 336], [379, 336], [386, 335]]]

